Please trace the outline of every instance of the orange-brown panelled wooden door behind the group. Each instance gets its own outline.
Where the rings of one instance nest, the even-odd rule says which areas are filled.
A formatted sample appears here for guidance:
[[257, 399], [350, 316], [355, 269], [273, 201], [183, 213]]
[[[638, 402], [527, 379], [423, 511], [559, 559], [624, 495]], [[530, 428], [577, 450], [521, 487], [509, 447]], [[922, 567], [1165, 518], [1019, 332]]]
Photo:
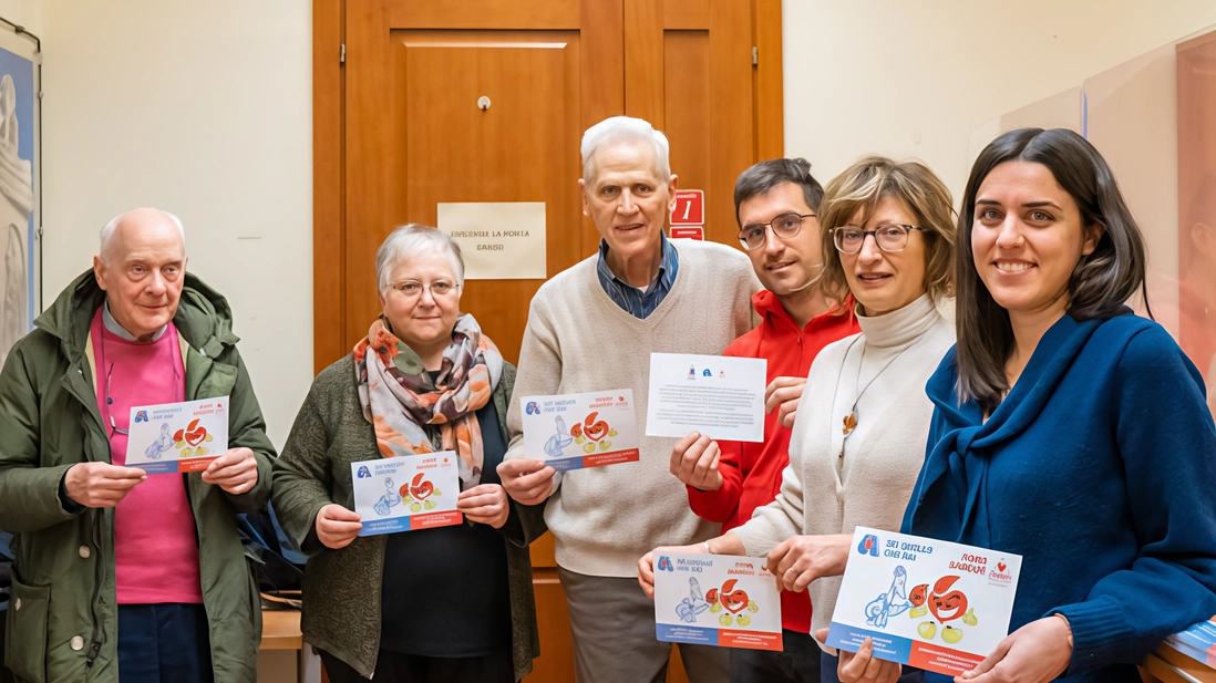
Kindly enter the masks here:
[[[781, 154], [779, 35], [779, 0], [314, 0], [316, 369], [379, 312], [377, 247], [435, 225], [438, 203], [544, 202], [550, 277], [593, 254], [579, 141], [609, 115], [668, 134], [680, 187], [705, 191], [706, 238], [737, 244], [734, 179]], [[541, 283], [466, 282], [462, 310], [511, 362]], [[528, 681], [573, 681], [548, 535], [533, 564]]]

